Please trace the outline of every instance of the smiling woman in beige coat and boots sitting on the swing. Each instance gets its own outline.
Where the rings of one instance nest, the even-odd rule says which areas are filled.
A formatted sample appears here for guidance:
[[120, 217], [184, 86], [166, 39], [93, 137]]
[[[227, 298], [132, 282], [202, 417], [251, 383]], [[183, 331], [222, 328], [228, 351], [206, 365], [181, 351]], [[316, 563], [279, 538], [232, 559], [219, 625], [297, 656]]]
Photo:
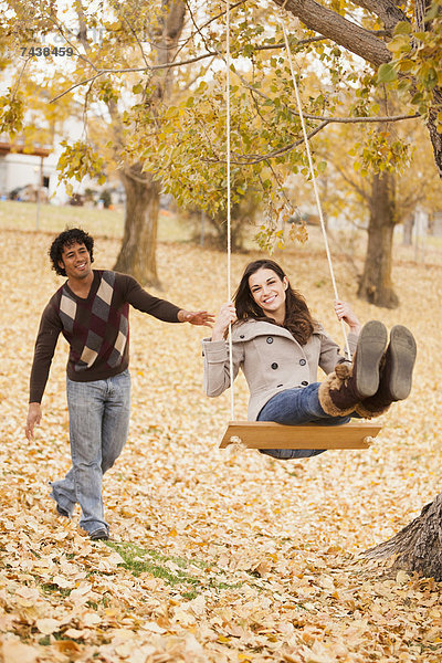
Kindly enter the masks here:
[[[407, 398], [415, 360], [414, 338], [397, 325], [388, 335], [382, 323], [362, 328], [350, 306], [335, 303], [349, 326], [354, 360], [312, 318], [303, 296], [272, 260], [257, 260], [244, 271], [234, 304], [221, 307], [212, 337], [204, 339], [204, 389], [214, 397], [230, 387], [225, 336], [232, 324], [233, 377], [242, 368], [250, 389], [249, 419], [288, 425], [347, 423], [377, 417], [392, 401]], [[317, 381], [318, 366], [327, 373]], [[262, 450], [274, 457], [308, 457], [323, 450]]]

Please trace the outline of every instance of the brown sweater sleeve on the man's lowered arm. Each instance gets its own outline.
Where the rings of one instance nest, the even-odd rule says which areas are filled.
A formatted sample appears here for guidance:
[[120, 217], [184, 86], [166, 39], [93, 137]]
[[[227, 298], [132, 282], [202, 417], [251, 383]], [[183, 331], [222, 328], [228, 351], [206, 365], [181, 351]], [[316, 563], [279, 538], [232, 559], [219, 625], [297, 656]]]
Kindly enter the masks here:
[[52, 357], [62, 330], [62, 323], [52, 302], [43, 311], [36, 335], [34, 360], [31, 369], [30, 403], [40, 403], [48, 382]]

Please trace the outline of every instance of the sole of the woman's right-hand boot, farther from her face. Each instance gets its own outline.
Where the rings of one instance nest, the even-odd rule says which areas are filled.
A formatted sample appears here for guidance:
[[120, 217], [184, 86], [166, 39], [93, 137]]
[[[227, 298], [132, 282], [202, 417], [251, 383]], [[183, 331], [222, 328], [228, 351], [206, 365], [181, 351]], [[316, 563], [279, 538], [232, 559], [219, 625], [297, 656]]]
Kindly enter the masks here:
[[413, 335], [407, 327], [396, 325], [390, 332], [389, 352], [391, 375], [389, 390], [394, 401], [404, 400], [411, 391], [417, 346]]

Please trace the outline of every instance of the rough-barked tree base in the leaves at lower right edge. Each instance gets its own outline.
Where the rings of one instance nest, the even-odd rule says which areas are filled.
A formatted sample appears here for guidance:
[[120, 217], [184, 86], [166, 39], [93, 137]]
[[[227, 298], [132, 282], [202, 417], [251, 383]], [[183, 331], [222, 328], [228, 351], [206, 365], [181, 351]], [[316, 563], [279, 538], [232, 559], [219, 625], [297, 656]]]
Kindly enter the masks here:
[[364, 552], [370, 559], [396, 555], [394, 569], [417, 571], [427, 578], [442, 580], [442, 493], [427, 504], [421, 515], [388, 541]]

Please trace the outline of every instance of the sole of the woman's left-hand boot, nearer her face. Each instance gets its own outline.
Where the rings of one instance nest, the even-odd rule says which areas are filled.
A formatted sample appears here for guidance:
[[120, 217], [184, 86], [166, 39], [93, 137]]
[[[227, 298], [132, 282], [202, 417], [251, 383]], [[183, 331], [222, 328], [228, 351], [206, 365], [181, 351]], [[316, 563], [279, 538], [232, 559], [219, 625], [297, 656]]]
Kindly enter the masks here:
[[356, 361], [356, 389], [360, 399], [373, 396], [379, 387], [379, 365], [388, 340], [387, 327], [378, 322], [366, 323], [359, 334]]

